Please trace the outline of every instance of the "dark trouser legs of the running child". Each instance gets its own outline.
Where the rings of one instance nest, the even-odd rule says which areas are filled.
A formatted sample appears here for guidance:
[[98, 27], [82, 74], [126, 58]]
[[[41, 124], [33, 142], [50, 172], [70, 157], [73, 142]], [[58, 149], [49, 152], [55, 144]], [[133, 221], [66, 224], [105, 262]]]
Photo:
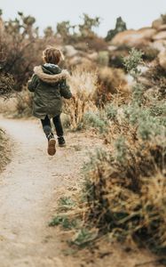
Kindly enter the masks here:
[[[63, 136], [63, 127], [61, 125], [60, 115], [52, 117], [53, 125], [55, 126], [56, 133], [59, 136]], [[43, 132], [46, 136], [51, 133], [51, 120], [46, 115], [44, 119], [41, 119], [43, 125]]]

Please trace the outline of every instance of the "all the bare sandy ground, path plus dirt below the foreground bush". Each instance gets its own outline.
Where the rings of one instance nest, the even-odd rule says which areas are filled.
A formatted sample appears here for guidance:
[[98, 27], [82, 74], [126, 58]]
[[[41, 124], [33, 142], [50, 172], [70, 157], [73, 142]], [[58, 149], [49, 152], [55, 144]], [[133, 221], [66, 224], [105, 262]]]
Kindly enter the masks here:
[[35, 120], [1, 117], [0, 127], [9, 134], [12, 148], [12, 162], [0, 176], [0, 267], [159, 266], [147, 263], [155, 260], [148, 252], [127, 253], [105, 240], [91, 251], [65, 256], [67, 233], [48, 227], [59, 196], [79, 187], [83, 161], [88, 150], [100, 145], [98, 139], [67, 134], [67, 148], [50, 157]]

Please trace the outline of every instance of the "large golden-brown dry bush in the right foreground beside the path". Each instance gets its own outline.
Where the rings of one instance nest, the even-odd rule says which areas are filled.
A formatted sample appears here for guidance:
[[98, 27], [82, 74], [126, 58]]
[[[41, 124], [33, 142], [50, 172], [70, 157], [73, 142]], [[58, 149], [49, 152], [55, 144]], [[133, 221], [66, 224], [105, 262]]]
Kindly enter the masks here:
[[[123, 148], [123, 142], [116, 144]], [[86, 184], [88, 220], [119, 240], [134, 239], [166, 251], [166, 148], [148, 143], [118, 161], [120, 151], [98, 152]], [[122, 153], [122, 151], [121, 151]], [[116, 154], [117, 155], [117, 154]], [[120, 154], [119, 154], [120, 156]], [[156, 157], [157, 156], [157, 157]]]

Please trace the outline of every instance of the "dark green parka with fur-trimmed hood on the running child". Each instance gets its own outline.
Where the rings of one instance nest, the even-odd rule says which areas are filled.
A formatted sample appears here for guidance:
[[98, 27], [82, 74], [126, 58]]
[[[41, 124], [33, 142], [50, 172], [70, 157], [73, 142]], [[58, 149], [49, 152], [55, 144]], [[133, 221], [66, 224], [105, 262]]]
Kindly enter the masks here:
[[67, 85], [67, 70], [45, 63], [34, 69], [28, 81], [28, 90], [34, 93], [33, 115], [38, 118], [55, 117], [62, 111], [62, 97], [69, 99], [72, 93]]

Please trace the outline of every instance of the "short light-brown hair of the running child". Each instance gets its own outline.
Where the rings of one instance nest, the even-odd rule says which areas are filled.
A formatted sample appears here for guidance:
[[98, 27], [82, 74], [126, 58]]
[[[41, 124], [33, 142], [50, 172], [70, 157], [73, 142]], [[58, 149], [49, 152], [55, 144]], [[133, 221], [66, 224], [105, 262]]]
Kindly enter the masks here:
[[43, 61], [51, 64], [59, 64], [59, 61], [63, 61], [64, 56], [61, 51], [53, 46], [48, 46], [43, 50]]

